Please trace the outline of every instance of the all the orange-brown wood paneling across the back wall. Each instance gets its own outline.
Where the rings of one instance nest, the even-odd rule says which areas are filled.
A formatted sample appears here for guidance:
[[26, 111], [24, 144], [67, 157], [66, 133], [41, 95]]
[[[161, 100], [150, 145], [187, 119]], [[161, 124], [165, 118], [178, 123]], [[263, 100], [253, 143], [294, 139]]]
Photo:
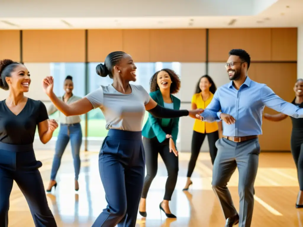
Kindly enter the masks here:
[[[208, 38], [206, 29], [25, 30], [22, 34], [21, 42], [20, 31], [0, 31], [0, 59], [103, 62], [111, 51], [122, 50], [135, 62], [226, 62], [229, 50], [242, 48], [251, 55], [251, 79], [268, 84], [287, 101], [294, 97], [297, 28], [209, 29]], [[290, 131], [289, 119], [264, 120], [262, 150], [290, 150]]]

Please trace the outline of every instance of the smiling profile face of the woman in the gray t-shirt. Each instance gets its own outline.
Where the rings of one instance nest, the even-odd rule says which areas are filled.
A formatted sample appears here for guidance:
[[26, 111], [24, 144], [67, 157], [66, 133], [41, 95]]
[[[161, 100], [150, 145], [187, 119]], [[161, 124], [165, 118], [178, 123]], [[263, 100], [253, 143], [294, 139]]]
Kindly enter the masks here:
[[[132, 56], [124, 54], [119, 64], [114, 67], [115, 73], [121, 75], [126, 81], [136, 81], [136, 69]], [[119, 72], [120, 70], [120, 72]]]

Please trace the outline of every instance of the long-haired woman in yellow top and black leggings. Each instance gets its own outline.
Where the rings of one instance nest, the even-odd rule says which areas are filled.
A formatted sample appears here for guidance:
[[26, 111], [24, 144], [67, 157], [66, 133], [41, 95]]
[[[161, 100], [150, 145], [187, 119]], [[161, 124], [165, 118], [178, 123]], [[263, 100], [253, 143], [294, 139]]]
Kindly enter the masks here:
[[[197, 83], [195, 94], [191, 99], [191, 109], [205, 109], [208, 104], [210, 104], [216, 90], [216, 85], [211, 77], [208, 75], [202, 76]], [[191, 158], [187, 171], [187, 182], [183, 190], [188, 190], [188, 187], [192, 184], [192, 181], [190, 179], [191, 174], [194, 171], [196, 161], [198, 159], [198, 155], [206, 135], [209, 144], [211, 163], [214, 164], [215, 157], [217, 155], [217, 147], [215, 146], [215, 143], [219, 139], [219, 133], [222, 135], [222, 123], [208, 123], [196, 119], [193, 130], [194, 132], [191, 140]]]

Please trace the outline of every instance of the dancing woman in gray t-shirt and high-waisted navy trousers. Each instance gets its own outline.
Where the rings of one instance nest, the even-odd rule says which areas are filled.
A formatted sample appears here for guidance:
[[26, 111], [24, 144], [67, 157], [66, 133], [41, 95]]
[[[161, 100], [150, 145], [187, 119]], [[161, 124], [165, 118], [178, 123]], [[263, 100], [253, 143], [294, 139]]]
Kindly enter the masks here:
[[99, 153], [99, 172], [108, 206], [92, 227], [134, 227], [145, 175], [142, 122], [145, 110], [158, 118], [190, 116], [203, 110], [172, 110], [161, 107], [136, 81], [136, 66], [129, 54], [115, 51], [96, 67], [97, 74], [109, 75], [113, 83], [100, 86], [81, 100], [65, 104], [53, 93], [53, 77], [43, 80], [45, 93], [66, 116], [81, 115], [100, 108], [109, 130]]

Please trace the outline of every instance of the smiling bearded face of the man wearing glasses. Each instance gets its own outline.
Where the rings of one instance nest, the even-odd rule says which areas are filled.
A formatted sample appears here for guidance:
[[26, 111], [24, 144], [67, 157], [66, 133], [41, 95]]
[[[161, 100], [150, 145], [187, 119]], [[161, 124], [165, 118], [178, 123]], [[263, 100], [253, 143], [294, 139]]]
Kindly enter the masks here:
[[226, 62], [226, 70], [229, 80], [236, 81], [240, 79], [241, 74], [247, 70], [247, 63], [241, 60], [237, 55], [230, 55]]

